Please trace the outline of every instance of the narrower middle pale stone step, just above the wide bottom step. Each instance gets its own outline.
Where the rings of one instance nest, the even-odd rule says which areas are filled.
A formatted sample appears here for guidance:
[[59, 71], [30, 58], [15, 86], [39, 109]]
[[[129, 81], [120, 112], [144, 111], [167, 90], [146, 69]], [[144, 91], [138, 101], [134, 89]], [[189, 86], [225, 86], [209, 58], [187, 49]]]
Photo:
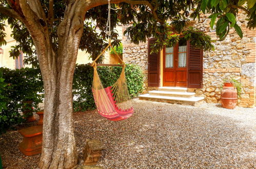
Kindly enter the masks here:
[[192, 92], [167, 92], [167, 91], [149, 91], [149, 95], [154, 96], [170, 96], [170, 97], [185, 97], [191, 98], [194, 97], [195, 93]]

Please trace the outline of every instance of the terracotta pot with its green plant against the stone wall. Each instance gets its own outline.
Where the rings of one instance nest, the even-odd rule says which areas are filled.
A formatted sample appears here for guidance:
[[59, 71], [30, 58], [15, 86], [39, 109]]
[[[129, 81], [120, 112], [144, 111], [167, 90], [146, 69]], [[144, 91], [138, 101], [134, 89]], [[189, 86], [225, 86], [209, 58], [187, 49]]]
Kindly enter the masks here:
[[221, 104], [226, 109], [234, 109], [237, 105], [238, 97], [242, 91], [241, 83], [234, 79], [224, 79], [223, 90], [221, 91]]

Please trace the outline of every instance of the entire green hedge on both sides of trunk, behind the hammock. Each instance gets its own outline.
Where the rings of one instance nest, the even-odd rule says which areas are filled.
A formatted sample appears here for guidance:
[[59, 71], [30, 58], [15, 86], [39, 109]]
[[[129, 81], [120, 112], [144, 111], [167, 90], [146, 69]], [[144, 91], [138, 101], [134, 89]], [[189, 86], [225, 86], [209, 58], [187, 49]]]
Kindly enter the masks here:
[[[98, 67], [98, 73], [104, 87], [112, 86], [119, 77], [122, 67]], [[143, 91], [143, 73], [139, 66], [127, 65], [126, 78], [131, 97]], [[89, 65], [76, 65], [73, 80], [74, 111], [95, 109], [92, 95], [93, 68]], [[43, 80], [40, 69], [23, 68], [11, 70], [0, 68], [0, 134], [9, 126], [24, 122], [19, 113], [33, 100], [33, 111], [37, 111], [42, 102]], [[29, 109], [29, 108], [26, 108]]]

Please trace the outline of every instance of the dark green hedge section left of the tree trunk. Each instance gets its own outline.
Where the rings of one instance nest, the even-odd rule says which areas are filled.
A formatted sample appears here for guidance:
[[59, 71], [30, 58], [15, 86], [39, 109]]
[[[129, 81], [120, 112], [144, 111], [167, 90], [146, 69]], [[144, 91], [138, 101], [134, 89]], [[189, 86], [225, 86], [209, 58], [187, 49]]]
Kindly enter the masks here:
[[[0, 68], [3, 77], [0, 77], [1, 101], [4, 105], [0, 111], [0, 134], [5, 132], [11, 125], [24, 122], [19, 111], [38, 111], [38, 103], [42, 102], [43, 81], [39, 69], [16, 69]], [[3, 81], [3, 78], [5, 79]], [[4, 83], [3, 83], [4, 82]], [[26, 101], [33, 101], [33, 108]], [[28, 107], [29, 106], [29, 107]]]

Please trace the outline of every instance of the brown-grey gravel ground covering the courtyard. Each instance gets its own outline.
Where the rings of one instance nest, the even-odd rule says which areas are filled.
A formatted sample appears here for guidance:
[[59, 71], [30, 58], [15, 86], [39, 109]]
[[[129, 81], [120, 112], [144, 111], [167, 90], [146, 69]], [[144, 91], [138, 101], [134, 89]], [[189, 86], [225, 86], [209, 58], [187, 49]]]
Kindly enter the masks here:
[[[256, 107], [227, 110], [220, 104], [139, 99], [129, 104], [134, 115], [117, 122], [96, 111], [74, 113], [81, 159], [85, 140], [100, 139], [106, 149], [97, 165], [104, 168], [256, 168]], [[21, 141], [17, 131], [0, 138], [4, 167], [37, 168], [40, 155], [24, 156], [17, 149]]]

